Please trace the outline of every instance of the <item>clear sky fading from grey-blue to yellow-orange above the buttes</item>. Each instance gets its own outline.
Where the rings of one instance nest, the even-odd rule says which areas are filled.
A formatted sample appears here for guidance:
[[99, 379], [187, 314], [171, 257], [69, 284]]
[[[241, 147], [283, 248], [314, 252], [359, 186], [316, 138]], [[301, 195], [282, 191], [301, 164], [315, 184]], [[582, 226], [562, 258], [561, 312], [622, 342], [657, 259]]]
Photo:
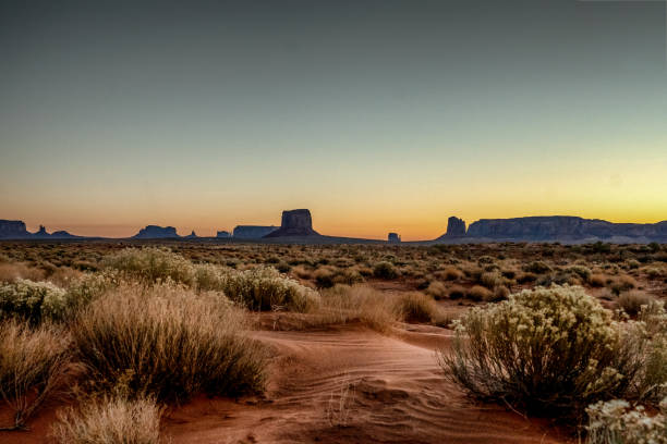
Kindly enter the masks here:
[[660, 1], [0, 0], [0, 219], [667, 219]]

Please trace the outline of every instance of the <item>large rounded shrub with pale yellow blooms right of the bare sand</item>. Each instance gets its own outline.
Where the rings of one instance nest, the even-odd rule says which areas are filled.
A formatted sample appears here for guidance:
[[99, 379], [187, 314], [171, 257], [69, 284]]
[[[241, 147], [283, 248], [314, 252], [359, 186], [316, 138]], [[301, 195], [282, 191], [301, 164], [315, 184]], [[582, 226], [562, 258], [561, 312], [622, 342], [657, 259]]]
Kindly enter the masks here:
[[620, 335], [597, 300], [580, 287], [523, 291], [473, 308], [457, 325], [446, 375], [471, 394], [529, 411], [580, 414], [622, 392], [634, 374], [618, 355]]

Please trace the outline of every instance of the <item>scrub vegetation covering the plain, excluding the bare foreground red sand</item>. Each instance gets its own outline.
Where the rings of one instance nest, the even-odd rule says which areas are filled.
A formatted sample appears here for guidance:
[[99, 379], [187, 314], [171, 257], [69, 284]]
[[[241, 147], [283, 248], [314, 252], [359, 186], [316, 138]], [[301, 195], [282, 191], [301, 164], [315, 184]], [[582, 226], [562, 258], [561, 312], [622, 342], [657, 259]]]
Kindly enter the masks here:
[[157, 443], [166, 406], [264, 390], [266, 319], [391, 335], [456, 316], [439, 361], [471, 395], [639, 443], [664, 428], [665, 295], [659, 245], [0, 243], [0, 425], [71, 381], [56, 442]]

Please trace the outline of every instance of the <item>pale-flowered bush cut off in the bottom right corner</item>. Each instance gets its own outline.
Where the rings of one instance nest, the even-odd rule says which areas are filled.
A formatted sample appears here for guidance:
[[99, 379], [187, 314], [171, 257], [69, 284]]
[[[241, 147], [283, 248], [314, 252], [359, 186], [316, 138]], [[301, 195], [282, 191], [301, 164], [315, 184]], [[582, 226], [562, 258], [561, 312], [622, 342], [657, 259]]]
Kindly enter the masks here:
[[667, 444], [667, 397], [659, 412], [648, 415], [644, 407], [630, 408], [622, 399], [599, 402], [586, 409], [587, 444]]

